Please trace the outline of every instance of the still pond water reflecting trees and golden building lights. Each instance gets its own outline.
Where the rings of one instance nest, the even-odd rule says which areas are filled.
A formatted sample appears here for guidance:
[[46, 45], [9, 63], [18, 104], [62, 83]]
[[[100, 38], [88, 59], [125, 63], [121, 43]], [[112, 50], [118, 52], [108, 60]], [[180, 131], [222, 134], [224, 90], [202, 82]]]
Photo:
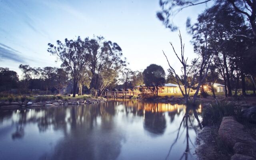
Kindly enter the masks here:
[[194, 160], [200, 112], [136, 100], [0, 110], [0, 160]]

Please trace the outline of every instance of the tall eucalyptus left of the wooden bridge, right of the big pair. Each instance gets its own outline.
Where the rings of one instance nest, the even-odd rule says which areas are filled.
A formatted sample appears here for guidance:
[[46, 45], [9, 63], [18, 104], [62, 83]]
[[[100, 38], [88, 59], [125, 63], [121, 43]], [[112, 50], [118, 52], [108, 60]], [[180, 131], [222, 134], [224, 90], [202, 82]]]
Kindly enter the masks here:
[[102, 36], [85, 39], [88, 47], [88, 68], [91, 72], [90, 89], [98, 90], [98, 95], [110, 85], [123, 67], [126, 58], [122, 60], [122, 49], [117, 43], [106, 41]]

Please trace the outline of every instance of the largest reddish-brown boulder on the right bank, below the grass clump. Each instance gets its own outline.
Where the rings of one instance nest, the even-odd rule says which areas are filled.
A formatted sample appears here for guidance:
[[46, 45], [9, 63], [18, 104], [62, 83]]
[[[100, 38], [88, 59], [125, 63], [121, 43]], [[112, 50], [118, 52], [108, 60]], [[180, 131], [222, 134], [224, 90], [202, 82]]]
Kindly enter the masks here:
[[218, 134], [220, 139], [223, 140], [230, 148], [233, 148], [237, 142], [256, 145], [256, 141], [250, 136], [250, 134], [244, 132], [243, 129], [244, 126], [238, 123], [234, 117], [223, 117]]

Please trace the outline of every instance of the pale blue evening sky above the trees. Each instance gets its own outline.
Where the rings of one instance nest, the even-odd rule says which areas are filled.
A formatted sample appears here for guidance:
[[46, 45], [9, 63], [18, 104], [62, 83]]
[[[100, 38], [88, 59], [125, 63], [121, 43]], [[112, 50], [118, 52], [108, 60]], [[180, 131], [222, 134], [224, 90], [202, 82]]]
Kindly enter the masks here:
[[[182, 34], [185, 56], [196, 57], [186, 32], [186, 19], [196, 21], [206, 5], [190, 7], [177, 14], [173, 22]], [[156, 17], [159, 0], [0, 0], [0, 67], [21, 75], [20, 64], [31, 67], [60, 67], [47, 52], [47, 44], [65, 38], [104, 36], [116, 42], [132, 70], [143, 71], [150, 64], [168, 63], [180, 70], [169, 42], [178, 53], [178, 32], [171, 32]]]

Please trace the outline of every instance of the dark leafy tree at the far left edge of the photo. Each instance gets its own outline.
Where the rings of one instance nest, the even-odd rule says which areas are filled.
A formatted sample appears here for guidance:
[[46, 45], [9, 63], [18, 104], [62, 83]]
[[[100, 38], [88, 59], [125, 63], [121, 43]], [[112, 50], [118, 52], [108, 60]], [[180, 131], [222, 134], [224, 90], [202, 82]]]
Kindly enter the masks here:
[[0, 67], [0, 92], [18, 87], [19, 76], [9, 68]]

